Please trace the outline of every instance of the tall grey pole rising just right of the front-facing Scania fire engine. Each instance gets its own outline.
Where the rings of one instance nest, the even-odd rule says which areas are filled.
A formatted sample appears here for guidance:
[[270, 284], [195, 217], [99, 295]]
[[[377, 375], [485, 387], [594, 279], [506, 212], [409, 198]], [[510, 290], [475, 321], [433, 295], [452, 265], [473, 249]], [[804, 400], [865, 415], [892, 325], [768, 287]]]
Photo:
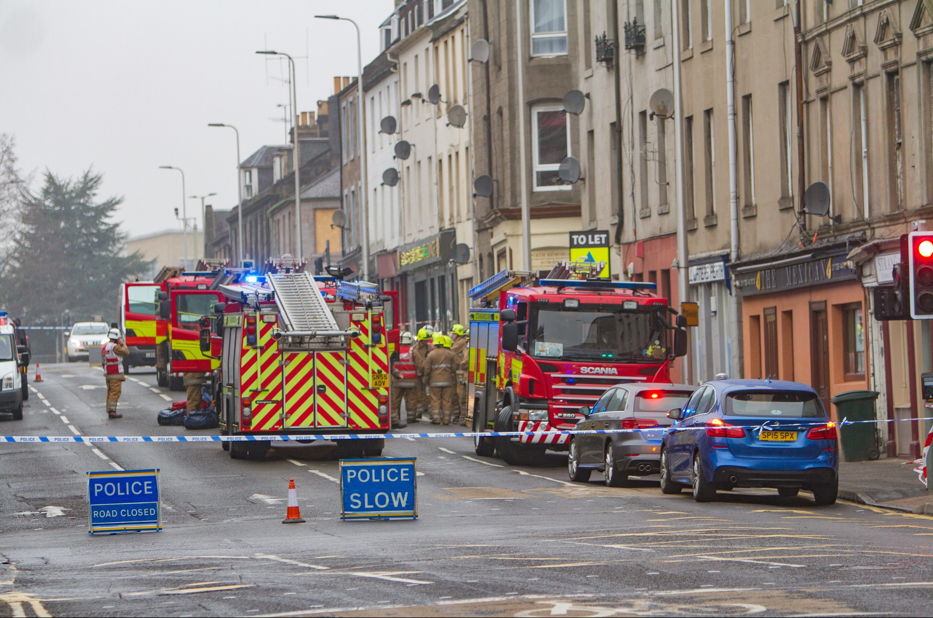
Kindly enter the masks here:
[[[677, 156], [675, 169], [675, 191], [677, 208], [677, 298], [681, 303], [689, 300], [689, 253], [687, 251], [687, 213], [684, 213], [684, 131], [683, 99], [680, 89], [680, 15], [677, 5], [671, 4], [671, 31], [674, 43], [672, 59], [674, 61], [674, 141]], [[687, 356], [680, 358], [680, 379], [688, 377], [693, 382], [693, 364], [690, 363], [690, 348]]]

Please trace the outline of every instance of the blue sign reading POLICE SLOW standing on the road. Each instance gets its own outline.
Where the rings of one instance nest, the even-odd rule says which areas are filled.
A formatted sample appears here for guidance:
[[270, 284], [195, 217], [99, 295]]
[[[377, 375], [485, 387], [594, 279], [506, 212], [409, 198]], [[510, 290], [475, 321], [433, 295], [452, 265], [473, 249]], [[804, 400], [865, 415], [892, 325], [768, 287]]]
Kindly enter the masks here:
[[341, 460], [341, 519], [417, 519], [415, 459]]

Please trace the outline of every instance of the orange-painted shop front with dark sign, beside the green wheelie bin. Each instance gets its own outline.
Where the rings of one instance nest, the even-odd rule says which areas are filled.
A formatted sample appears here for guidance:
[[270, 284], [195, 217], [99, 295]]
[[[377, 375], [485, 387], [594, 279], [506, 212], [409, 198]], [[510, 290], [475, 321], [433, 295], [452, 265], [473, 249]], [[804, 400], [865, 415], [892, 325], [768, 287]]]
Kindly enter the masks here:
[[811, 385], [829, 400], [869, 388], [865, 294], [845, 246], [732, 265], [742, 299], [745, 378]]

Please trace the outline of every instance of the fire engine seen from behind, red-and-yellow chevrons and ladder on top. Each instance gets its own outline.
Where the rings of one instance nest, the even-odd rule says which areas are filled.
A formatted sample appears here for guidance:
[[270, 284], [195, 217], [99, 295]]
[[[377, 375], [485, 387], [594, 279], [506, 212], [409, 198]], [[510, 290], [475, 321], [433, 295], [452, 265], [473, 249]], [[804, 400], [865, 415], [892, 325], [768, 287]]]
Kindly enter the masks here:
[[[219, 358], [222, 435], [386, 433], [389, 352], [376, 286], [278, 272], [221, 284], [202, 318], [202, 350]], [[336, 440], [343, 458], [376, 456], [383, 438]], [[262, 459], [268, 441], [225, 442]]]

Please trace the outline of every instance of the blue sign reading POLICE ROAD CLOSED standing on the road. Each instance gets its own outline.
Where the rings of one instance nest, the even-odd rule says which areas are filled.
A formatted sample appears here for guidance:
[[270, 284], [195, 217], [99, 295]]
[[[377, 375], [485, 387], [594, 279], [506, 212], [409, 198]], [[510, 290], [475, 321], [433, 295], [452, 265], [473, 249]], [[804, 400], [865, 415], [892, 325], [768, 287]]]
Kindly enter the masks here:
[[160, 529], [158, 469], [88, 473], [88, 531], [91, 534]]

